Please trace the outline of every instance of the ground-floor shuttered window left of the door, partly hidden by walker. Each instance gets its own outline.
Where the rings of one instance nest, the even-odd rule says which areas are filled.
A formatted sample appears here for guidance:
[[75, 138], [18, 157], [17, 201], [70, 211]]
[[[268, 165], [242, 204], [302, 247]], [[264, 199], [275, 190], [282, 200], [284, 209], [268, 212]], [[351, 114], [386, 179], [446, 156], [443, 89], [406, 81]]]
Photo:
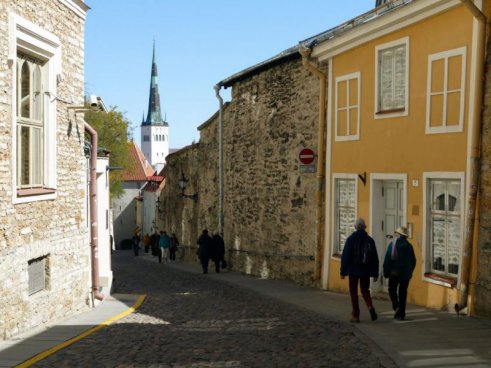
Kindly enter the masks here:
[[334, 178], [334, 254], [343, 252], [356, 220], [356, 178]]

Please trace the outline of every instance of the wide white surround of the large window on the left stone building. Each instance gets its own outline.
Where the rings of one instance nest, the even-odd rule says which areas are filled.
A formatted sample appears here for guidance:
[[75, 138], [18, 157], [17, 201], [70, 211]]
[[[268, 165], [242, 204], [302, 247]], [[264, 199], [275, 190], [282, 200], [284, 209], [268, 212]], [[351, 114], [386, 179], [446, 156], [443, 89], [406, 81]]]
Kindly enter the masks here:
[[[17, 53], [22, 51], [44, 61], [47, 82], [44, 100], [44, 160], [43, 188], [46, 193], [18, 195], [17, 192]], [[61, 80], [61, 42], [57, 36], [38, 25], [9, 13], [8, 63], [12, 72], [12, 201], [14, 204], [56, 198], [56, 96], [57, 81]], [[21, 191], [22, 192], [22, 191]]]

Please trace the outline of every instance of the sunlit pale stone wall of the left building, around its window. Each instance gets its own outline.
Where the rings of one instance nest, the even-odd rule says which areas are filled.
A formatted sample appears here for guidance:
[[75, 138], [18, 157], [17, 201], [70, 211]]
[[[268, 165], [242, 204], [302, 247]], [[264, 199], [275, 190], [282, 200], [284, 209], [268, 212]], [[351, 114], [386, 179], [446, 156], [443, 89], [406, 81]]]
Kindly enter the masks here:
[[[83, 103], [84, 19], [58, 0], [0, 4], [0, 339], [88, 308], [90, 254], [85, 212], [83, 116], [57, 103], [56, 199], [13, 204], [12, 65], [7, 62], [12, 12], [62, 43], [57, 96]], [[47, 257], [44, 291], [28, 295], [28, 261]]]

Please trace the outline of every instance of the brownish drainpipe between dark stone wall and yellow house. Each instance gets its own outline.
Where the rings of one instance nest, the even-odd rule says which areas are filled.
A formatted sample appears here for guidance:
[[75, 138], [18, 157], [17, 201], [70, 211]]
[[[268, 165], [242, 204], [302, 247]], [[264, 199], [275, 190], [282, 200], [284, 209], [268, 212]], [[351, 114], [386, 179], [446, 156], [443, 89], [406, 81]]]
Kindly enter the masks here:
[[317, 244], [315, 249], [315, 268], [313, 282], [318, 282], [321, 278], [322, 273], [322, 257], [324, 254], [324, 232], [323, 232], [323, 201], [322, 193], [324, 187], [325, 178], [325, 121], [326, 121], [326, 89], [327, 89], [327, 76], [321, 72], [316, 66], [314, 66], [310, 61], [309, 57], [312, 53], [312, 49], [305, 48], [301, 46], [299, 52], [302, 55], [303, 66], [310, 71], [312, 74], [319, 78], [319, 133], [318, 133], [318, 143], [317, 143], [317, 211], [316, 211], [316, 234], [317, 234]]

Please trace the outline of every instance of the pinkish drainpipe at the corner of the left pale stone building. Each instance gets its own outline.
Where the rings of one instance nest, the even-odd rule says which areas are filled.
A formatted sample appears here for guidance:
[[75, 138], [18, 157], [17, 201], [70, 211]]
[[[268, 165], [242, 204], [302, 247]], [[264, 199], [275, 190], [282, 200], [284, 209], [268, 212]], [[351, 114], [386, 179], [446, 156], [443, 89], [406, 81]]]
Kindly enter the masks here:
[[97, 238], [97, 132], [89, 124], [84, 122], [84, 128], [90, 135], [92, 149], [90, 151], [90, 178], [89, 178], [89, 202], [90, 202], [90, 256], [92, 260], [92, 296], [97, 300], [103, 300], [104, 295], [99, 291], [99, 242]]

